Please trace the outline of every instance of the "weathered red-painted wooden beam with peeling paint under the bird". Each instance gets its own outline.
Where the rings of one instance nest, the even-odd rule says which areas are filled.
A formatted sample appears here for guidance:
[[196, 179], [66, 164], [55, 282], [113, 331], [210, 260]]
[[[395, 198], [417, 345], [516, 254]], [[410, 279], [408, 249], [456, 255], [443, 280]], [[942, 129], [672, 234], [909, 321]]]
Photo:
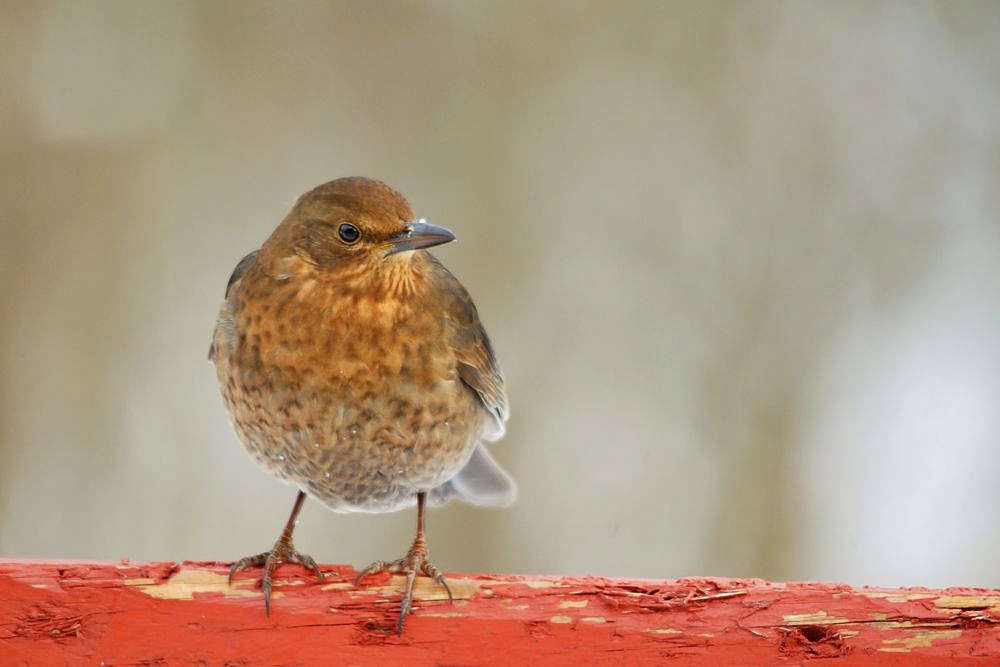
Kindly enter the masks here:
[[852, 589], [760, 580], [279, 572], [272, 614], [219, 563], [0, 561], [8, 665], [1000, 665], [1000, 591]]

